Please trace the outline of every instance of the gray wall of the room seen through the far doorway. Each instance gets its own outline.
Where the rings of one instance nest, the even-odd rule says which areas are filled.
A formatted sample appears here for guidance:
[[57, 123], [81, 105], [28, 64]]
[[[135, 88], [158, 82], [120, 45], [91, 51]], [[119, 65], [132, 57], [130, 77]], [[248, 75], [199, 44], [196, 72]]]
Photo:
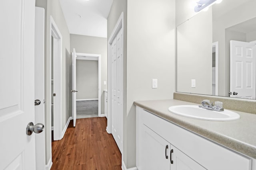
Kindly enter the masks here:
[[76, 99], [98, 98], [98, 61], [76, 60]]

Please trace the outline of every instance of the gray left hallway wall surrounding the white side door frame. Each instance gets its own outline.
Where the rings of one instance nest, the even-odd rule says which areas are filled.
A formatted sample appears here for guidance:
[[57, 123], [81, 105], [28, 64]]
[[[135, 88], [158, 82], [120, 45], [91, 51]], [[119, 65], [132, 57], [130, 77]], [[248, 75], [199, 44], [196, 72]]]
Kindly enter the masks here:
[[60, 6], [59, 0], [36, 0], [36, 6], [42, 7], [45, 9], [46, 18], [45, 18], [45, 100], [46, 100], [46, 118], [45, 118], [45, 135], [46, 135], [46, 164], [50, 160], [50, 135], [51, 129], [50, 127], [50, 88], [48, 84], [50, 84], [50, 16], [53, 17], [60, 33], [62, 35], [62, 129], [64, 129], [68, 118], [70, 117], [70, 33], [68, 31], [68, 27], [66, 21], [64, 19], [64, 15], [62, 12], [62, 8]]

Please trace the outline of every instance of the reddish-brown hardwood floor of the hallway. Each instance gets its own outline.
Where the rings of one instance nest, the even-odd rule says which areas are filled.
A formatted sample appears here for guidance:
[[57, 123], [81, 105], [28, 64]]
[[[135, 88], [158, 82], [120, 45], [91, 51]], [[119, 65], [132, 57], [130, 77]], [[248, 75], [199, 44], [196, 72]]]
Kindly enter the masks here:
[[106, 132], [106, 117], [70, 121], [60, 141], [52, 142], [51, 170], [121, 170], [121, 153]]

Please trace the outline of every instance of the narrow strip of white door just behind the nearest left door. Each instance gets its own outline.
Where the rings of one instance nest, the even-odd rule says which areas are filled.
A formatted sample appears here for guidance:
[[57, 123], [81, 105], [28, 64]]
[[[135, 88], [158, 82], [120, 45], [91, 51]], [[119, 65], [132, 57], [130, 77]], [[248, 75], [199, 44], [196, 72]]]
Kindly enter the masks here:
[[[35, 14], [35, 123], [44, 124], [44, 8]], [[36, 170], [45, 170], [45, 133], [36, 135]]]

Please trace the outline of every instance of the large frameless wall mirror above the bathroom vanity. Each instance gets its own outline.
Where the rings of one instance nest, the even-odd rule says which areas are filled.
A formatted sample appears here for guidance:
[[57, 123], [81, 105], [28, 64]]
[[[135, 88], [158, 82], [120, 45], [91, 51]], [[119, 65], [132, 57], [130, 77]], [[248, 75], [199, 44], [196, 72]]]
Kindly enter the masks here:
[[255, 9], [223, 0], [177, 24], [178, 92], [256, 99]]

